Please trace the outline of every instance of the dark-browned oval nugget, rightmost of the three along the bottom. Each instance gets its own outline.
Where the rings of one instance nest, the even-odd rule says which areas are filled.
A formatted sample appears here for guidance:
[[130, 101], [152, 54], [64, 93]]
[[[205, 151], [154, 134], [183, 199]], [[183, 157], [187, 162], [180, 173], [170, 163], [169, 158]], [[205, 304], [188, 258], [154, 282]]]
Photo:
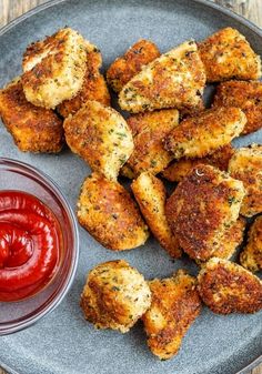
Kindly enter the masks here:
[[201, 299], [214, 313], [255, 313], [262, 309], [262, 282], [233, 262], [211, 259], [198, 281]]

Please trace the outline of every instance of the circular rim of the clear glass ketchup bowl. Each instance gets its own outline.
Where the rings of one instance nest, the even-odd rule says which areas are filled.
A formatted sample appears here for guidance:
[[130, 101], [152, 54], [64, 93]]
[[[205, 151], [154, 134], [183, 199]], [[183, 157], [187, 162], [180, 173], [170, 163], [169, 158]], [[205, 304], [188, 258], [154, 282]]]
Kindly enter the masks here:
[[36, 315], [29, 316], [20, 321], [19, 323], [12, 323], [12, 322], [3, 323], [3, 325], [0, 326], [0, 336], [12, 334], [14, 332], [24, 330], [31, 326], [32, 324], [37, 323], [40, 319], [42, 319], [48, 313], [52, 312], [62, 302], [63, 297], [66, 296], [69, 289], [71, 287], [72, 282], [74, 280], [75, 272], [77, 272], [78, 261], [79, 261], [79, 230], [78, 230], [77, 219], [75, 219], [75, 215], [73, 213], [73, 210], [70, 203], [68, 202], [68, 199], [64, 196], [59, 185], [48, 174], [46, 174], [38, 168], [30, 165], [29, 163], [14, 160], [14, 159], [0, 156], [0, 166], [1, 165], [18, 166], [20, 169], [23, 169], [24, 171], [29, 172], [29, 176], [31, 174], [37, 175], [38, 178], [43, 180], [43, 182], [47, 184], [48, 188], [51, 188], [51, 190], [56, 192], [71, 223], [72, 240], [73, 240], [74, 245], [72, 250], [72, 262], [66, 275], [66, 281], [62, 283], [59, 292], [54, 295], [54, 297], [47, 305], [43, 306], [43, 310], [40, 310]]

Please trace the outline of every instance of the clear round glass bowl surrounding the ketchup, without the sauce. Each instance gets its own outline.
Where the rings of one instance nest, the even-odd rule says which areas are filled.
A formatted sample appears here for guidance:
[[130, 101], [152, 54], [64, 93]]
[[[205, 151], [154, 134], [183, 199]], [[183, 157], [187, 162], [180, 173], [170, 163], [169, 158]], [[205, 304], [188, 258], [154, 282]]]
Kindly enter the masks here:
[[0, 190], [31, 193], [46, 203], [57, 216], [63, 251], [49, 284], [30, 299], [0, 302], [0, 335], [11, 334], [39, 321], [57, 307], [72, 284], [79, 256], [78, 225], [67, 199], [44, 173], [20, 161], [0, 158]]

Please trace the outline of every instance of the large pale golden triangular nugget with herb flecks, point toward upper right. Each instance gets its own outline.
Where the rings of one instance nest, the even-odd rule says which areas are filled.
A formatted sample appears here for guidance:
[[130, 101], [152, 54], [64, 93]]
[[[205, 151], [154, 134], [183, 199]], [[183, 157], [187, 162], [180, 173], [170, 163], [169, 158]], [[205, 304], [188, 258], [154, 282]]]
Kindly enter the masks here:
[[192, 109], [202, 104], [205, 72], [194, 41], [187, 41], [143, 67], [119, 94], [132, 113], [155, 109]]

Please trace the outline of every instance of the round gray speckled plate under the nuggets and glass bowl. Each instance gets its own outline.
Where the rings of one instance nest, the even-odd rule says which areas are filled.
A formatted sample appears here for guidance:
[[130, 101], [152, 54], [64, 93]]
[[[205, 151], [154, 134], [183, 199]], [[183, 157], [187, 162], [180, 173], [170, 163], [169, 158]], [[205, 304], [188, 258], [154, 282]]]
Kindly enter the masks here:
[[[21, 55], [29, 42], [66, 24], [102, 50], [104, 68], [139, 38], [152, 39], [161, 51], [167, 51], [187, 39], [201, 40], [226, 26], [243, 32], [262, 54], [262, 32], [256, 27], [208, 1], [52, 1], [2, 30], [0, 87], [20, 73]], [[236, 143], [259, 140], [261, 133], [260, 139], [256, 133]], [[79, 186], [90, 173], [83, 161], [69, 151], [60, 155], [23, 154], [13, 146], [2, 125], [0, 145], [0, 155], [47, 172], [75, 205]], [[155, 360], [147, 348], [140, 323], [124, 335], [95, 331], [83, 320], [79, 295], [87, 272], [99, 262], [125, 259], [148, 279], [167, 276], [181, 266], [195, 274], [196, 267], [188, 260], [173, 263], [153, 240], [143, 247], [117, 254], [80, 229], [80, 243], [77, 276], [62, 304], [27, 331], [1, 337], [0, 361], [7, 366], [23, 374], [234, 374], [262, 353], [261, 313], [220, 316], [203, 309], [180, 353], [169, 362]]]

